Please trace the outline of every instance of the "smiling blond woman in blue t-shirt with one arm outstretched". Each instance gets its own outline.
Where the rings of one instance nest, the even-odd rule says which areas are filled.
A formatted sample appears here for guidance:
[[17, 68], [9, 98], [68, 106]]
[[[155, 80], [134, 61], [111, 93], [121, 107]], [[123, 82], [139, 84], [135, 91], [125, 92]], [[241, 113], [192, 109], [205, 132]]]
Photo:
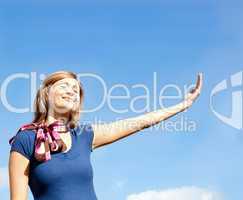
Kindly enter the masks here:
[[[72, 72], [49, 75], [38, 90], [35, 116], [10, 139], [11, 200], [96, 200], [90, 153], [187, 108], [199, 96], [202, 74], [184, 101], [109, 124], [79, 124], [83, 89]], [[131, 125], [132, 124], [132, 125]]]

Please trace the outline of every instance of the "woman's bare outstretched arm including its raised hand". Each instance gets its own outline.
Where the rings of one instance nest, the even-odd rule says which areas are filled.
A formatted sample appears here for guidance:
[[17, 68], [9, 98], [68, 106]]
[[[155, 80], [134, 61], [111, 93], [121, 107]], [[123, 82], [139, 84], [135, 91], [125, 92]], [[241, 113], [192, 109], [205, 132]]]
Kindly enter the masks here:
[[201, 89], [202, 74], [200, 73], [197, 77], [196, 86], [185, 96], [181, 103], [175, 106], [145, 113], [137, 117], [118, 120], [112, 123], [92, 124], [94, 131], [92, 148], [95, 149], [113, 143], [188, 109], [200, 95]]

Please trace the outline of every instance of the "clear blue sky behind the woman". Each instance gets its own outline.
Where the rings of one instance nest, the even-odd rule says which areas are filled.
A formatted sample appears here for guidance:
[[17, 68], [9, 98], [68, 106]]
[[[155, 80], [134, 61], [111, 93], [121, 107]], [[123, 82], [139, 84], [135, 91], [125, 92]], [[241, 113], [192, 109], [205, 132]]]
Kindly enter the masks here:
[[[147, 129], [96, 149], [91, 158], [95, 190], [99, 199], [126, 200], [148, 190], [197, 187], [218, 192], [226, 200], [240, 200], [242, 129], [220, 121], [209, 100], [217, 83], [243, 69], [242, 8], [240, 1], [0, 0], [0, 83], [2, 86], [14, 73], [36, 72], [39, 76], [69, 70], [96, 74], [108, 88], [124, 84], [134, 97], [143, 94], [132, 89], [135, 84], [146, 84], [153, 91], [154, 72], [158, 88], [168, 84], [183, 88], [203, 72], [204, 87], [198, 101], [189, 111], [169, 119], [194, 120], [196, 130]], [[100, 84], [87, 77], [82, 83], [85, 108], [99, 104], [103, 95]], [[29, 85], [24, 79], [12, 82], [7, 91], [9, 102], [29, 107]], [[242, 86], [215, 97], [218, 112], [230, 115], [235, 90]], [[129, 104], [129, 99], [115, 102], [123, 109]], [[142, 107], [144, 102], [136, 106]], [[2, 100], [0, 112], [0, 173], [6, 182], [8, 139], [33, 113], [10, 112]], [[105, 103], [81, 120], [112, 121], [137, 115], [131, 110], [112, 112]], [[0, 192], [8, 199], [6, 184], [0, 185]]]

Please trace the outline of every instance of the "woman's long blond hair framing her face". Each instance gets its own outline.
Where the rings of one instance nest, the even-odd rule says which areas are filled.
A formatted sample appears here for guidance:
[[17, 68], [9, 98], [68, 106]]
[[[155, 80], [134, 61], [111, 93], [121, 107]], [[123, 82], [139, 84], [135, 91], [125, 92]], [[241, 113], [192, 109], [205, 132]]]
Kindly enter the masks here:
[[[49, 103], [48, 103], [48, 91], [49, 88], [57, 81], [64, 79], [64, 78], [73, 78], [78, 80], [77, 75], [73, 72], [69, 71], [57, 71], [45, 78], [42, 83], [42, 86], [38, 89], [35, 101], [34, 101], [34, 119], [32, 123], [45, 123], [47, 120]], [[79, 118], [80, 118], [80, 111], [83, 105], [83, 87], [82, 84], [79, 82], [79, 95], [80, 95], [80, 102], [79, 108], [77, 110], [73, 110], [70, 113], [68, 124], [71, 128], [74, 128], [78, 125]]]

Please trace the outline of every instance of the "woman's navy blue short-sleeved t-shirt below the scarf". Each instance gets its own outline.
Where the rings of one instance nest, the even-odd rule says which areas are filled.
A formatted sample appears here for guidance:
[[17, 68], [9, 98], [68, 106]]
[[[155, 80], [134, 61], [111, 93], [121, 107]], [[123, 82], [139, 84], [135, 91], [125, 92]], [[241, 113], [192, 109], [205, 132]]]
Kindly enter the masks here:
[[30, 160], [29, 187], [34, 200], [97, 200], [90, 161], [94, 132], [90, 124], [71, 129], [72, 146], [67, 152], [51, 153], [51, 160], [34, 158], [33, 130], [16, 134], [11, 151]]

